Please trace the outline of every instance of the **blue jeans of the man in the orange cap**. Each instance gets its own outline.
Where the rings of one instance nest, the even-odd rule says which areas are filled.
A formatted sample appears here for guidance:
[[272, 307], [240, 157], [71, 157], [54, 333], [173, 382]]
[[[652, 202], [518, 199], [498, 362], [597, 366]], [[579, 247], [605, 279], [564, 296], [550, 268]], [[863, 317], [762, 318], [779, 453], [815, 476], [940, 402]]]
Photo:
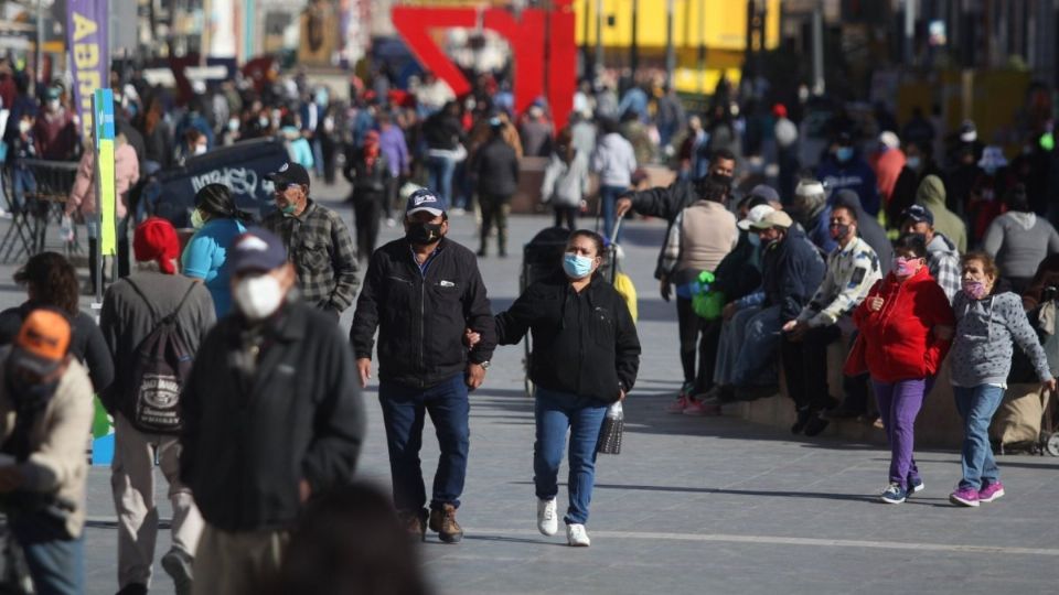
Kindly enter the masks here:
[[33, 512], [10, 518], [36, 593], [79, 595], [85, 592], [84, 537], [68, 539], [55, 523], [55, 519]]

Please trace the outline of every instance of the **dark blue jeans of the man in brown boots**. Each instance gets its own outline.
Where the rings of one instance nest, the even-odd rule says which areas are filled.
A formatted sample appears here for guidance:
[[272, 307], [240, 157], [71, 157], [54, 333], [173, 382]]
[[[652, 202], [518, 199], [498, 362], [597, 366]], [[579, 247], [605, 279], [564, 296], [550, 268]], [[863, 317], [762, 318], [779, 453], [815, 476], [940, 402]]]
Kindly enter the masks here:
[[419, 465], [426, 413], [430, 414], [430, 421], [434, 422], [441, 450], [438, 470], [434, 476], [430, 508], [440, 510], [447, 504], [459, 508], [470, 448], [470, 402], [463, 375], [458, 374], [426, 389], [383, 380], [378, 383], [378, 402], [383, 405], [397, 510], [419, 511], [427, 502]]

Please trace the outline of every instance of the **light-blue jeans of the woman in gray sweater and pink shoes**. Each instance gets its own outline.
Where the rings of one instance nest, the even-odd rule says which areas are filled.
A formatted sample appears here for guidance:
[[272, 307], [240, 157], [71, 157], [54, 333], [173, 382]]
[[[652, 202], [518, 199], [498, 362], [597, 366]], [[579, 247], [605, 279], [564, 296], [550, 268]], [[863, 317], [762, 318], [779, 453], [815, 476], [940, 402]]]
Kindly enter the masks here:
[[990, 422], [1004, 400], [1004, 389], [992, 385], [952, 387], [956, 411], [963, 418], [963, 452], [961, 488], [982, 489], [1001, 480], [1001, 469], [993, 458], [990, 445]]

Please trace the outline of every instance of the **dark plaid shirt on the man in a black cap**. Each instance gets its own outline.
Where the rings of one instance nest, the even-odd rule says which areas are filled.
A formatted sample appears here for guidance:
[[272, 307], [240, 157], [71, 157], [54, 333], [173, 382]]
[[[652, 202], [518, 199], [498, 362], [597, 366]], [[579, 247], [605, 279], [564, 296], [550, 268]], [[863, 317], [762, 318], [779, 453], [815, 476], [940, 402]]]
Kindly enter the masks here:
[[277, 210], [261, 225], [284, 240], [306, 303], [338, 314], [350, 307], [361, 281], [353, 238], [338, 213], [309, 201], [301, 215]]

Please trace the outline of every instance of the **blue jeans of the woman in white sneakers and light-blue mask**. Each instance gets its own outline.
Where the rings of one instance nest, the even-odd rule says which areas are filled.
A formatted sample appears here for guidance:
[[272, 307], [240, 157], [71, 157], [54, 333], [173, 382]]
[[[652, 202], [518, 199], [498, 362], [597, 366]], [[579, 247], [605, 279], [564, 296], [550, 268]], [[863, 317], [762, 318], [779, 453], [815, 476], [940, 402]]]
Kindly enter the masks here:
[[559, 491], [559, 464], [563, 462], [566, 431], [569, 430], [570, 475], [567, 493], [570, 504], [564, 520], [567, 524], [585, 524], [596, 480], [596, 445], [603, 428], [607, 405], [596, 399], [537, 387], [534, 414], [537, 440], [533, 445], [533, 482], [537, 498], [548, 500]]

